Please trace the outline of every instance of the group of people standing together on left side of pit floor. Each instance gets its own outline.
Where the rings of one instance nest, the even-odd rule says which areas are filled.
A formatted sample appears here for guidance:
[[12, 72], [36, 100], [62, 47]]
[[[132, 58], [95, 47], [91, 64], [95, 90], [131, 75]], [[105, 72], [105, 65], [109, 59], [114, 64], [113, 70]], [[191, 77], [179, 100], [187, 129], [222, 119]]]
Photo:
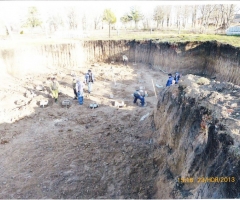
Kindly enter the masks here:
[[[72, 88], [75, 95], [74, 99], [78, 100], [80, 105], [83, 104], [83, 89], [85, 87], [85, 84], [88, 85], [88, 93], [90, 94], [92, 92], [93, 82], [94, 82], [94, 75], [91, 70], [88, 70], [88, 72], [85, 74], [84, 81], [81, 81], [77, 77], [73, 77]], [[57, 103], [58, 93], [59, 93], [59, 83], [56, 80], [56, 78], [52, 78], [52, 82], [50, 84], [50, 91], [52, 93], [54, 101]]]

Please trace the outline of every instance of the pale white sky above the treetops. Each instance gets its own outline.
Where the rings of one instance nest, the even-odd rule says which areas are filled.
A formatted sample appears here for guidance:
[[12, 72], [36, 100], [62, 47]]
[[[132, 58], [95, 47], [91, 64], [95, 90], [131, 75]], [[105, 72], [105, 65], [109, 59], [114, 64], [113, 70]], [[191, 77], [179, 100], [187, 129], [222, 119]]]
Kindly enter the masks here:
[[30, 6], [36, 6], [44, 13], [64, 12], [67, 7], [75, 7], [80, 12], [102, 13], [110, 8], [117, 19], [128, 12], [131, 6], [138, 6], [143, 14], [152, 13], [157, 5], [192, 4], [240, 4], [239, 1], [0, 1], [0, 18], [12, 21], [23, 17]]

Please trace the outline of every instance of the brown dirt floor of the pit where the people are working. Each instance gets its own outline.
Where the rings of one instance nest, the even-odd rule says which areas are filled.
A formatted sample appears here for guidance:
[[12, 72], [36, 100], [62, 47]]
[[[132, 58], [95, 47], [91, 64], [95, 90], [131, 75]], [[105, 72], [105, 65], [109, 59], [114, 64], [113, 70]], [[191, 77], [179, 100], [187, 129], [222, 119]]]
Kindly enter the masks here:
[[[151, 198], [154, 194], [157, 169], [151, 159], [151, 116], [139, 120], [151, 115], [157, 103], [152, 80], [164, 85], [166, 74], [144, 65], [104, 63], [75, 73], [83, 78], [88, 68], [96, 76], [93, 93], [85, 92], [84, 105], [73, 101], [70, 108], [61, 106], [62, 100], [73, 98], [70, 69], [57, 71], [62, 91], [57, 104], [47, 89], [35, 90], [39, 84], [46, 86], [47, 77], [56, 70], [1, 80], [0, 198]], [[133, 104], [136, 86], [148, 91], [147, 107]], [[36, 96], [26, 97], [30, 90]], [[40, 108], [41, 99], [49, 99], [49, 106]], [[118, 109], [112, 100], [124, 100], [126, 106]], [[89, 109], [92, 102], [99, 108]]]

